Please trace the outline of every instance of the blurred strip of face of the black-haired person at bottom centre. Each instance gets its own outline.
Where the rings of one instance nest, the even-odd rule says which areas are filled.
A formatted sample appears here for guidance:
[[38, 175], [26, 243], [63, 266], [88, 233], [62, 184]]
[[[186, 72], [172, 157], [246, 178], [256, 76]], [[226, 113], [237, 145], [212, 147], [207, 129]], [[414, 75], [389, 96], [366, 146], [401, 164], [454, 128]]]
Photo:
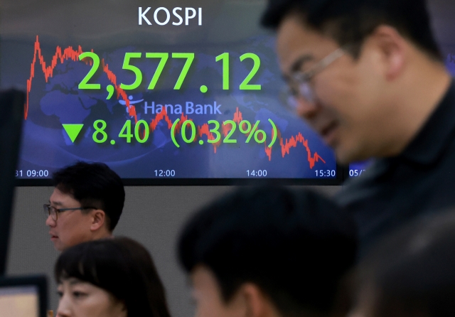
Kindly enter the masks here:
[[244, 309], [235, 298], [225, 303], [220, 286], [210, 269], [198, 266], [191, 274], [196, 317], [242, 317]]

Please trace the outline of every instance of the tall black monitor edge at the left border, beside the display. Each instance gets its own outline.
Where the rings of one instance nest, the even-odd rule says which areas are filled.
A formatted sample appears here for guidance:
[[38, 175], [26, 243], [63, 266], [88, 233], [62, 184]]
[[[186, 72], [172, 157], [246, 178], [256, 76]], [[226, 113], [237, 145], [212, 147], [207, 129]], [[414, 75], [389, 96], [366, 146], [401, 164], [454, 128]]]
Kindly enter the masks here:
[[[0, 276], [5, 273], [11, 205], [18, 151], [21, 141], [25, 94], [18, 90], [0, 92]], [[6, 316], [0, 314], [0, 316]]]

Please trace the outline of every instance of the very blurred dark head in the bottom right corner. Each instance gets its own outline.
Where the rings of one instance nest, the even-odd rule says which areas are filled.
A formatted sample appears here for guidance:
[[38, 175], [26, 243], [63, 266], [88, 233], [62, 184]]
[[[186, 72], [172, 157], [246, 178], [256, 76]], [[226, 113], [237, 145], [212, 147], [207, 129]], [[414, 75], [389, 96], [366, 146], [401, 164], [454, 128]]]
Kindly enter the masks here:
[[455, 316], [454, 250], [454, 211], [386, 237], [355, 270], [349, 317]]

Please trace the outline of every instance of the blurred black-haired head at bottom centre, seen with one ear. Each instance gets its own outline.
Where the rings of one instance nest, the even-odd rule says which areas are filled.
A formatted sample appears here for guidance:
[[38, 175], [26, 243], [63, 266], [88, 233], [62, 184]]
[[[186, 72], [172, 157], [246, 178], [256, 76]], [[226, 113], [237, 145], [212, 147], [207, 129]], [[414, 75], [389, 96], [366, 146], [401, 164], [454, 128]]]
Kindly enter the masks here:
[[355, 260], [345, 215], [328, 198], [286, 188], [241, 188], [200, 210], [178, 242], [196, 316], [330, 316]]

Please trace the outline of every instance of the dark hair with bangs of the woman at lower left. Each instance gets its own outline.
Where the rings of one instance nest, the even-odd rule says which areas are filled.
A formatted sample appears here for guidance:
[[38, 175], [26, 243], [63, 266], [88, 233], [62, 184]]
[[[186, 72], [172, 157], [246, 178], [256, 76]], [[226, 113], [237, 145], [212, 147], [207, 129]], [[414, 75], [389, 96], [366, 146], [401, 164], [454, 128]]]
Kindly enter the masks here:
[[127, 237], [83, 242], [63, 251], [55, 281], [75, 278], [123, 301], [129, 317], [170, 317], [164, 286], [149, 252]]

